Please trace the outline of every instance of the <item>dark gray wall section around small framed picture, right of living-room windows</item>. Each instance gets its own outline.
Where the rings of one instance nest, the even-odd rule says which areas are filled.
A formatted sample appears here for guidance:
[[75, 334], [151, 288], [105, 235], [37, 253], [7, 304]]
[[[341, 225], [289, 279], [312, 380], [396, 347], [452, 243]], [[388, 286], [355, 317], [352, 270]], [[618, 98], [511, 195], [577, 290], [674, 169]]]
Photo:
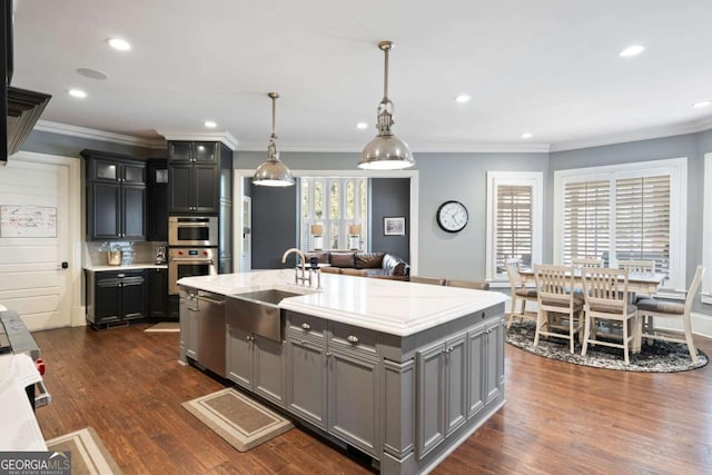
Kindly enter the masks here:
[[[370, 180], [370, 250], [389, 253], [411, 261], [411, 179]], [[383, 218], [405, 217], [405, 236], [385, 236]]]

